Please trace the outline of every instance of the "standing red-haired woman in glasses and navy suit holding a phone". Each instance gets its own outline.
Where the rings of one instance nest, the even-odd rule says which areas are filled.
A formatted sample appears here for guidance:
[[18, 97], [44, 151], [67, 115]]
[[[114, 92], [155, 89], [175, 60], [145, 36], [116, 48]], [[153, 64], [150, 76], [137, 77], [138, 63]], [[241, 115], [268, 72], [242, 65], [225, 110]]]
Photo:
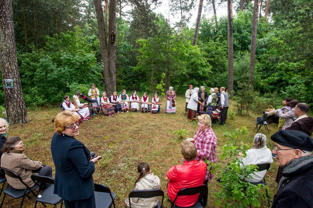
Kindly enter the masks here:
[[74, 137], [79, 135], [79, 116], [63, 111], [54, 119], [51, 153], [55, 165], [54, 194], [64, 199], [66, 208], [95, 208], [95, 163], [89, 150]]

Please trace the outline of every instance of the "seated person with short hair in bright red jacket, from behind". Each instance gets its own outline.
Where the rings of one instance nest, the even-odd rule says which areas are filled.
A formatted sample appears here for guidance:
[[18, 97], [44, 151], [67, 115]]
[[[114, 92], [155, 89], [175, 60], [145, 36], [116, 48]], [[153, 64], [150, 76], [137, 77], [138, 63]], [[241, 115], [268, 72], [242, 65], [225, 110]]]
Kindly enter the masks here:
[[[167, 171], [167, 194], [171, 201], [174, 201], [177, 192], [182, 188], [201, 186], [207, 172], [207, 165], [203, 161], [197, 161], [196, 146], [185, 140], [181, 143], [181, 153], [185, 159], [184, 164], [172, 166]], [[193, 206], [199, 194], [192, 196], [178, 196], [175, 201], [177, 206]]]

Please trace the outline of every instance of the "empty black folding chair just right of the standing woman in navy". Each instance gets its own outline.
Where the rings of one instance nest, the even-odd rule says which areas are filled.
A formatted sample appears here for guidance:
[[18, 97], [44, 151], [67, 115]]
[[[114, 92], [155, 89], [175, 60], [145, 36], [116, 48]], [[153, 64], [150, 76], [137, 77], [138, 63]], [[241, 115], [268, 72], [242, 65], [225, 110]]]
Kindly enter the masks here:
[[115, 193], [110, 190], [108, 186], [95, 183], [95, 200], [96, 208], [115, 208], [114, 199]]

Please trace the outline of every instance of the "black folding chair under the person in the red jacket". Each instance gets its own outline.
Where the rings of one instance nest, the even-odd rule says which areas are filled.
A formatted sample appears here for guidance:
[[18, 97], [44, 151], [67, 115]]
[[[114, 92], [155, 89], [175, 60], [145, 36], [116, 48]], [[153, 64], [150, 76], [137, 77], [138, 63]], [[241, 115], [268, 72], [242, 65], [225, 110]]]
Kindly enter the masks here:
[[[171, 208], [183, 208], [182, 206], [175, 205], [175, 201], [177, 200], [178, 196], [191, 196], [200, 193], [199, 198], [208, 190], [208, 186], [206, 184], [202, 184], [198, 187], [191, 187], [191, 188], [182, 188], [177, 192], [177, 195], [172, 203]], [[185, 207], [186, 208], [186, 207]], [[203, 208], [203, 205], [197, 200], [196, 203], [192, 206], [188, 206], [188, 208]]]

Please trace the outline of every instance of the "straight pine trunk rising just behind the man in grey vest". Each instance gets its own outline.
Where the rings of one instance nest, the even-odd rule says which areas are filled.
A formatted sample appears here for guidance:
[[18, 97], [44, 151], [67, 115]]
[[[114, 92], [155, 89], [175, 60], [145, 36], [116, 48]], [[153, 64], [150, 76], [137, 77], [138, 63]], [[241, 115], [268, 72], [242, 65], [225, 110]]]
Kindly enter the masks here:
[[228, 17], [228, 93], [233, 97], [233, 4], [232, 0], [227, 0]]

